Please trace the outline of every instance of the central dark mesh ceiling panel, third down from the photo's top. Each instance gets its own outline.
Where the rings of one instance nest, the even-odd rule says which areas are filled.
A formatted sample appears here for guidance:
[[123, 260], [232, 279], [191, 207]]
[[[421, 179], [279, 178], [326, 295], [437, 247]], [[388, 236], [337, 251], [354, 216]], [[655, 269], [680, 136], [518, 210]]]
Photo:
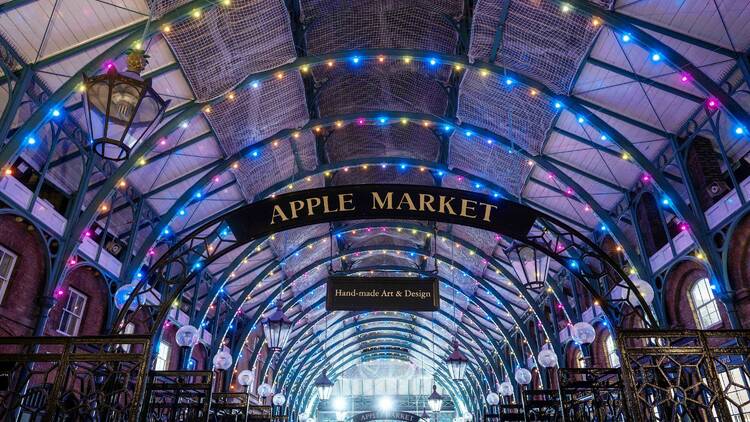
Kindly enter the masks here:
[[435, 160], [440, 151], [440, 142], [430, 129], [416, 124], [352, 124], [333, 132], [325, 144], [325, 150], [332, 163], [368, 157]]

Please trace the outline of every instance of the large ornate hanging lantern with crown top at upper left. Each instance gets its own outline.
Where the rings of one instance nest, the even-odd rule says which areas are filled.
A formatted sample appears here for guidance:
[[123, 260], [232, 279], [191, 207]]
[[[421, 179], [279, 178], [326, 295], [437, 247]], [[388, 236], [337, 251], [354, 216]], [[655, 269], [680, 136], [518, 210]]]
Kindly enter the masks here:
[[132, 49], [126, 72], [117, 72], [109, 63], [105, 73], [83, 76], [89, 143], [104, 159], [127, 160], [138, 143], [159, 125], [169, 105], [151, 87], [151, 79], [141, 77], [147, 63], [145, 51]]

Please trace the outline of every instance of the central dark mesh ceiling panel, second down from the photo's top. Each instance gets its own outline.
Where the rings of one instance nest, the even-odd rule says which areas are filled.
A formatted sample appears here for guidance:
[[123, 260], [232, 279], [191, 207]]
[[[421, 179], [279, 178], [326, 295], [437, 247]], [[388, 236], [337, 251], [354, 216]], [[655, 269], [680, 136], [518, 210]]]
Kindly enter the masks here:
[[366, 62], [352, 69], [314, 69], [323, 88], [318, 94], [321, 116], [374, 110], [412, 111], [442, 115], [447, 94], [436, 79], [448, 77], [446, 67]]

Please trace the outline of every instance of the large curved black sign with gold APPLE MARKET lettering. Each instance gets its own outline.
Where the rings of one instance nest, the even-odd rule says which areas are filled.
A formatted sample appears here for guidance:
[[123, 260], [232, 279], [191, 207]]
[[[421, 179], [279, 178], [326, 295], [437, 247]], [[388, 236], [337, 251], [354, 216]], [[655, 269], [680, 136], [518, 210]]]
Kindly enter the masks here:
[[278, 195], [229, 213], [240, 242], [341, 220], [426, 220], [476, 227], [523, 239], [538, 213], [502, 198], [470, 191], [414, 185], [348, 185]]

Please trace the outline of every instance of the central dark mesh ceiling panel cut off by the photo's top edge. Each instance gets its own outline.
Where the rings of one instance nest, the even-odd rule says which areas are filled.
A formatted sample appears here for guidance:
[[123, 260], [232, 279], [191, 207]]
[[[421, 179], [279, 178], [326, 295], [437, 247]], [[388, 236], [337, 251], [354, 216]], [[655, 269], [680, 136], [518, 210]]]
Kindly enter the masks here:
[[308, 54], [358, 48], [455, 50], [458, 36], [449, 15], [461, 14], [461, 2], [302, 1], [309, 21]]

